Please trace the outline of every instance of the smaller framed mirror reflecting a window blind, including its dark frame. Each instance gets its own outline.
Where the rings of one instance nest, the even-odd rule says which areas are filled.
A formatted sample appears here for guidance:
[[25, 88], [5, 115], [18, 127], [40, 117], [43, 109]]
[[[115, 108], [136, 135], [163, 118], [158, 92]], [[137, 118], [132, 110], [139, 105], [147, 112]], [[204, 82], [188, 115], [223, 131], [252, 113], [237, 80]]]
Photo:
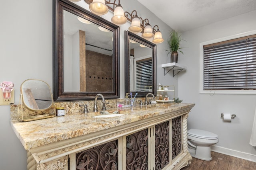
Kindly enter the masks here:
[[156, 44], [125, 31], [125, 93], [156, 95]]

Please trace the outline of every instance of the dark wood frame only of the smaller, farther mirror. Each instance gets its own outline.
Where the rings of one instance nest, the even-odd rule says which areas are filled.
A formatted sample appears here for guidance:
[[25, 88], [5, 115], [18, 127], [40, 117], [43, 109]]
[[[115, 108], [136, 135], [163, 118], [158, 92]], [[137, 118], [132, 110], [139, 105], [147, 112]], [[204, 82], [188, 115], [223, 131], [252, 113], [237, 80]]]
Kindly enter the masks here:
[[139, 92], [134, 91], [132, 93], [138, 93], [138, 97], [145, 97], [146, 94], [152, 93], [156, 96], [156, 44], [130, 32], [124, 31], [124, 61], [125, 61], [125, 94], [130, 93], [130, 39], [137, 41], [142, 45], [152, 48], [152, 92]]

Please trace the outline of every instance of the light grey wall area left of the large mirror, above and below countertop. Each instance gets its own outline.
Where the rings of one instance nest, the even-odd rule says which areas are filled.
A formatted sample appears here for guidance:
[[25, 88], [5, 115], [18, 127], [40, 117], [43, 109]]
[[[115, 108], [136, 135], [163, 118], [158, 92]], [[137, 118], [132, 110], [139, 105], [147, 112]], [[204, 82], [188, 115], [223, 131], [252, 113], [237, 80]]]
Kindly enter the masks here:
[[[0, 5], [0, 82], [20, 84], [28, 78], [52, 87], [52, 1], [2, 1]], [[0, 106], [1, 169], [26, 169], [26, 151], [10, 126], [10, 106]]]

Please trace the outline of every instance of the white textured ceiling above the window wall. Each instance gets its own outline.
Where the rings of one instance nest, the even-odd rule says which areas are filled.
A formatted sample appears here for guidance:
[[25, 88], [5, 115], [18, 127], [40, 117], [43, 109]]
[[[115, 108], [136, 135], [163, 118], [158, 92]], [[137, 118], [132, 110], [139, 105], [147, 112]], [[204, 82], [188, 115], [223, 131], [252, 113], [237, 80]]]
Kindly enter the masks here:
[[172, 29], [180, 32], [256, 10], [256, 0], [138, 0], [138, 2]]

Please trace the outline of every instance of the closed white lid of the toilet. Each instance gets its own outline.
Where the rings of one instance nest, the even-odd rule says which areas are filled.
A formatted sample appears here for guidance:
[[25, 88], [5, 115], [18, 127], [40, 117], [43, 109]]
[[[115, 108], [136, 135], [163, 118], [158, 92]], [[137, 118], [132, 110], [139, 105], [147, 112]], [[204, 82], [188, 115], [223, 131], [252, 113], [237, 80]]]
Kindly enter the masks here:
[[218, 135], [208, 132], [208, 131], [203, 131], [199, 129], [190, 129], [188, 130], [188, 136], [192, 137], [197, 137], [201, 139], [218, 139]]

